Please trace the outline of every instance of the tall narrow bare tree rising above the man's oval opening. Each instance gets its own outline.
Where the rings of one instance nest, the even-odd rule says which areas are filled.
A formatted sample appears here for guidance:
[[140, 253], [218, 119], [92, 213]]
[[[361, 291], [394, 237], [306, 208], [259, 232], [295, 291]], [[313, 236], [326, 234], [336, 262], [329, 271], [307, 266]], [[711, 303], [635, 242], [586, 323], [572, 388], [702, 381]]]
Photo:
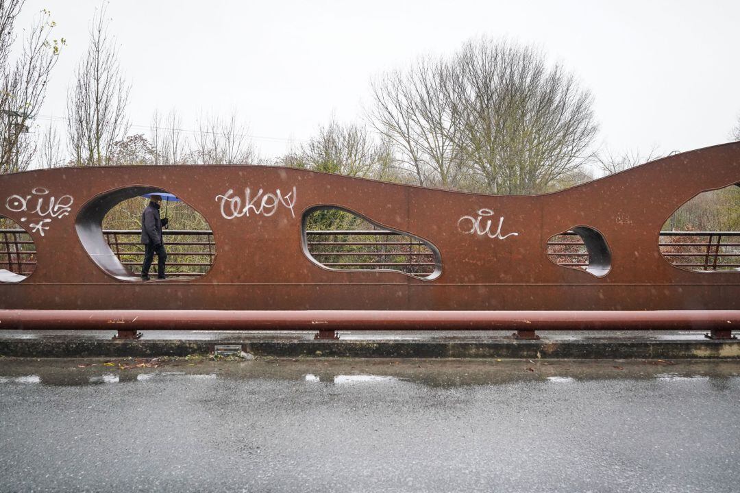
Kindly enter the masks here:
[[113, 146], [127, 134], [130, 85], [118, 62], [110, 18], [98, 10], [92, 18], [90, 45], [75, 69], [67, 97], [67, 137], [77, 166], [104, 166]]

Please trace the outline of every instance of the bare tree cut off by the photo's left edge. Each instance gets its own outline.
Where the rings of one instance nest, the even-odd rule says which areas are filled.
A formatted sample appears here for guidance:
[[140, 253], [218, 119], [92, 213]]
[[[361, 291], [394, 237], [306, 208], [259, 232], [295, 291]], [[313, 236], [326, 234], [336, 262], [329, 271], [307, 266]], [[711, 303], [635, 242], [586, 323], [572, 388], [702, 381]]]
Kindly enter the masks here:
[[36, 152], [36, 142], [28, 135], [46, 96], [47, 82], [64, 46], [64, 38], [51, 39], [55, 26], [50, 12], [42, 10], [29, 30], [24, 31], [20, 55], [11, 53], [13, 33], [25, 0], [0, 0], [0, 173], [22, 171]]

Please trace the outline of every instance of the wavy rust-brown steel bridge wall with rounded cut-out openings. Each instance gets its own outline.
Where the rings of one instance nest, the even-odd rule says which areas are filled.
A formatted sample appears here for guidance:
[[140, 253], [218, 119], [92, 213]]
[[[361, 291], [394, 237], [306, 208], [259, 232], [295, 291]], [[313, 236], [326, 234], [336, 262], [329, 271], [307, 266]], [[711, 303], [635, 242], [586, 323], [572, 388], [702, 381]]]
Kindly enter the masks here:
[[[441, 191], [269, 166], [9, 174], [0, 176], [0, 214], [30, 231], [38, 265], [23, 282], [0, 285], [0, 309], [737, 310], [740, 272], [675, 268], [660, 254], [658, 242], [663, 223], [680, 205], [702, 191], [739, 182], [740, 143], [676, 154], [531, 197]], [[90, 210], [86, 204], [127, 187], [141, 187], [136, 194], [172, 192], [203, 214], [217, 251], [209, 273], [192, 280], [131, 282], [92, 261], [78, 236], [86, 228], [79, 213]], [[236, 210], [243, 211], [246, 188], [252, 198], [260, 189], [262, 197], [275, 197], [279, 189], [283, 201], [273, 206], [275, 200], [268, 197], [260, 210], [260, 197], [248, 214], [231, 218], [230, 203], [218, 197], [232, 190], [240, 197]], [[49, 211], [52, 198], [55, 207]], [[337, 205], [431, 242], [441, 255], [441, 275], [423, 280], [315, 265], [303, 250], [301, 221], [303, 212], [317, 205]], [[492, 235], [501, 222], [498, 236], [468, 233], [472, 220], [461, 218], [478, 217], [481, 209], [493, 211], [482, 220], [485, 226], [491, 219]], [[48, 221], [39, 225], [39, 220]], [[563, 268], [546, 256], [548, 238], [576, 226], [605, 237], [611, 252], [606, 276]]]

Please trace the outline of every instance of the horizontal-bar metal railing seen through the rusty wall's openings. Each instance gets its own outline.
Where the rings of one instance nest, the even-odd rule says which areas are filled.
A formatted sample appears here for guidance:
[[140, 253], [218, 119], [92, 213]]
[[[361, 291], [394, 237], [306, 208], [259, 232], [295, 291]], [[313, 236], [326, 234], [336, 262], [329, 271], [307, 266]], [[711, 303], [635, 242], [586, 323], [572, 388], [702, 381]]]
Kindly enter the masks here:
[[[141, 272], [144, 245], [140, 231], [104, 230], [111, 250], [132, 274]], [[413, 237], [388, 230], [306, 231], [307, 246], [317, 262], [332, 269], [391, 269], [414, 276], [434, 271], [434, 252]], [[216, 255], [212, 231], [164, 232], [167, 276], [202, 276]], [[661, 231], [659, 249], [672, 265], [690, 271], [740, 268], [740, 231]], [[547, 255], [565, 267], [588, 266], [588, 251], [578, 234], [552, 237]], [[36, 247], [23, 229], [0, 229], [0, 269], [28, 276], [36, 268]], [[152, 265], [156, 269], [156, 262]]]

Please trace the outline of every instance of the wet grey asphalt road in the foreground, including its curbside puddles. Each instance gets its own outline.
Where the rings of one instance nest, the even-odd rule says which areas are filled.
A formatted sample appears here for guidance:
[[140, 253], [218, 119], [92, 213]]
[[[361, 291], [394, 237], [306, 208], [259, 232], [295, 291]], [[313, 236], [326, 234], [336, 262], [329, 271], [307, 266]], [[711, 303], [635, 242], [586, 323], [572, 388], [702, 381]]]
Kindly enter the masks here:
[[733, 361], [1, 358], [0, 491], [737, 492], [739, 418]]

